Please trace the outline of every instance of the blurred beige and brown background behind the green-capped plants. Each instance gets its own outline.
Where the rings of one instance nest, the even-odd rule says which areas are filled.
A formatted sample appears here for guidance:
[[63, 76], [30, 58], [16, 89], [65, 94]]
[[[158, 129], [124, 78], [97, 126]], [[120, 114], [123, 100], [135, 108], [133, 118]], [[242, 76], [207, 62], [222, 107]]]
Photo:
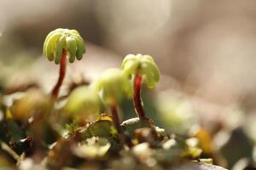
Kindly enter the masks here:
[[44, 38], [55, 28], [74, 28], [84, 37], [87, 53], [81, 62], [68, 64], [66, 82], [81, 74], [93, 80], [102, 70], [119, 67], [126, 54], [150, 54], [162, 74], [154, 98], [159, 115], [146, 106], [147, 97], [144, 105], [156, 122], [176, 133], [200, 122], [214, 136], [216, 148], [223, 150], [227, 166], [237, 168], [255, 160], [255, 1], [2, 0], [0, 4], [2, 88], [37, 82], [48, 93], [58, 66], [44, 59]]

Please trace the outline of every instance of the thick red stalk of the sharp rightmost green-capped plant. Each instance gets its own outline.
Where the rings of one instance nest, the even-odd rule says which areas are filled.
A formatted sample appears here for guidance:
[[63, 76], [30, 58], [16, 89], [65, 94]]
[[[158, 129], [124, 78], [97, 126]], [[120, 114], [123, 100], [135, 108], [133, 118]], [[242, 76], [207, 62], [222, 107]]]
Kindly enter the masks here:
[[143, 82], [143, 77], [140, 75], [136, 75], [134, 77], [134, 82], [133, 82], [133, 105], [135, 107], [135, 111], [137, 113], [137, 116], [140, 119], [145, 119], [145, 112], [143, 110], [143, 101], [141, 98], [141, 87], [142, 87], [142, 82]]

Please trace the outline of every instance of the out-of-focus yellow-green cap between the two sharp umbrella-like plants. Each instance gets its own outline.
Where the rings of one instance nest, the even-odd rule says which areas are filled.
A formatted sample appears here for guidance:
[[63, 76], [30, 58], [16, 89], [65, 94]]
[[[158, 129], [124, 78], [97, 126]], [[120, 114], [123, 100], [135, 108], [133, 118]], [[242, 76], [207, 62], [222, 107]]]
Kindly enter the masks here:
[[96, 90], [102, 93], [102, 99], [107, 105], [119, 102], [124, 96], [131, 97], [131, 82], [120, 69], [111, 68], [104, 72], [94, 84]]

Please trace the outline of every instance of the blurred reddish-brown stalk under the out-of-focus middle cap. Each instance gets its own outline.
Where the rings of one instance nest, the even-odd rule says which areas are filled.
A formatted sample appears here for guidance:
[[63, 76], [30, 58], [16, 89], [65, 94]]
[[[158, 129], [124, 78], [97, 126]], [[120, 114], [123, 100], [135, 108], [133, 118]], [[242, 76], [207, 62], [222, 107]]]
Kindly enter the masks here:
[[131, 147], [131, 146], [132, 146], [131, 140], [128, 139], [128, 138], [125, 136], [125, 133], [124, 133], [122, 127], [120, 126], [119, 115], [118, 115], [118, 111], [117, 111], [116, 105], [110, 105], [110, 110], [111, 110], [111, 113], [112, 113], [113, 124], [114, 124], [116, 130], [117, 130], [118, 133], [119, 133], [120, 139], [123, 141], [123, 143], [125, 143], [125, 144], [127, 144], [129, 147]]

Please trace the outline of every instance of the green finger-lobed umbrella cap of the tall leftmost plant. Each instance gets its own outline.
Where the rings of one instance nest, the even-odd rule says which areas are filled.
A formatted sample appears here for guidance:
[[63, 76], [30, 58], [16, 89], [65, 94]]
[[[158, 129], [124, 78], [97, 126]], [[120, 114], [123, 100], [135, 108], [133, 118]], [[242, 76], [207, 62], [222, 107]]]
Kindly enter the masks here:
[[61, 62], [62, 49], [67, 50], [69, 62], [73, 63], [74, 59], [82, 59], [85, 53], [84, 40], [79, 31], [58, 28], [49, 32], [44, 40], [44, 55], [55, 64]]

